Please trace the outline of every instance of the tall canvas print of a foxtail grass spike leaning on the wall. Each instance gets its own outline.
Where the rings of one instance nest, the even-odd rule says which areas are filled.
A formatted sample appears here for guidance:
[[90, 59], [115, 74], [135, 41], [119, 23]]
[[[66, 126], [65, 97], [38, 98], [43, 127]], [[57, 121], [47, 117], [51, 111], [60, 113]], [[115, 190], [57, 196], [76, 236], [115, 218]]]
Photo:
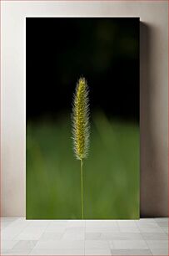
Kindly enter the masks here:
[[139, 18], [26, 18], [27, 219], [137, 219]]

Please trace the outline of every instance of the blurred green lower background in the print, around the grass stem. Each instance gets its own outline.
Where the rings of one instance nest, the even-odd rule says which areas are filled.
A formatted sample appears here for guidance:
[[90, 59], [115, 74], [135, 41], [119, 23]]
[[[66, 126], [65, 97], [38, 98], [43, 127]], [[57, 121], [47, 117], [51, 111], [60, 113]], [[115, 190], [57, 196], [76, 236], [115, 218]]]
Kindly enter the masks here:
[[[139, 218], [138, 125], [94, 114], [83, 167], [84, 218]], [[27, 218], [82, 218], [70, 116], [27, 125], [27, 170]]]

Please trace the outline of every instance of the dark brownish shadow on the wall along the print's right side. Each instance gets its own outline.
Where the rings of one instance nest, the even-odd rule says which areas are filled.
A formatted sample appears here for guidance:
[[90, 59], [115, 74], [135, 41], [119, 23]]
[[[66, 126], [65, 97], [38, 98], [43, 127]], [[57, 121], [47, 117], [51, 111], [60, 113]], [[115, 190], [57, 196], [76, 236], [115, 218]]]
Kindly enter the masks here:
[[[140, 23], [140, 140], [141, 140], [141, 217], [167, 216], [167, 165], [164, 146], [154, 134], [159, 125], [152, 100], [152, 29]], [[156, 119], [156, 120], [155, 120]], [[160, 121], [160, 119], [159, 119]], [[159, 130], [159, 129], [158, 129]], [[159, 131], [158, 131], [159, 132]], [[166, 158], [167, 159], [167, 158]]]

